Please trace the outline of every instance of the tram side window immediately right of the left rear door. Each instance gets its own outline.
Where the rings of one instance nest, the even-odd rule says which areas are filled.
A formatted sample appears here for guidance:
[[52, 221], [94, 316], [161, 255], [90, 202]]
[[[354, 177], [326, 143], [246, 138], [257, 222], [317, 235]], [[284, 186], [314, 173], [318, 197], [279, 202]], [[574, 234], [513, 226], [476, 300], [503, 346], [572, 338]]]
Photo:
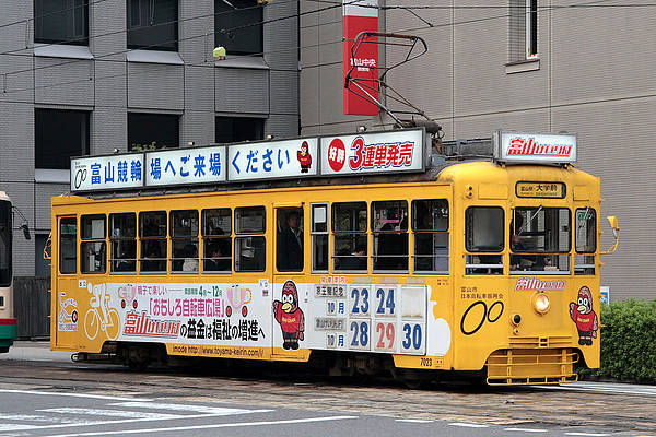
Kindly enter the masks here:
[[106, 218], [104, 214], [82, 215], [80, 253], [82, 273], [105, 273], [107, 244], [105, 241]]

